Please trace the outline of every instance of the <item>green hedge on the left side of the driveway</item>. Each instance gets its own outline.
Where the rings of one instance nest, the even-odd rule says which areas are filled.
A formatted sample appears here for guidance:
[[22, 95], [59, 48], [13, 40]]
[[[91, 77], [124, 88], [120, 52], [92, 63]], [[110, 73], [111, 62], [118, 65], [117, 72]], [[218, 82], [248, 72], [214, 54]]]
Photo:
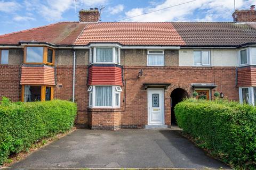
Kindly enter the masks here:
[[0, 105], [0, 165], [12, 154], [73, 127], [76, 104], [52, 100]]

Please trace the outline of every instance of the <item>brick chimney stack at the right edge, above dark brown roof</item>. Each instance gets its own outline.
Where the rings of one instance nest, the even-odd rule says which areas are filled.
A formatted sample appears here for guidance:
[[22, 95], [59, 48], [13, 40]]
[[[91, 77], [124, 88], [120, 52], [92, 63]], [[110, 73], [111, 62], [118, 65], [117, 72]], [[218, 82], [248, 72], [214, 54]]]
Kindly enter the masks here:
[[233, 14], [234, 22], [256, 22], [255, 5], [250, 10], [236, 10]]

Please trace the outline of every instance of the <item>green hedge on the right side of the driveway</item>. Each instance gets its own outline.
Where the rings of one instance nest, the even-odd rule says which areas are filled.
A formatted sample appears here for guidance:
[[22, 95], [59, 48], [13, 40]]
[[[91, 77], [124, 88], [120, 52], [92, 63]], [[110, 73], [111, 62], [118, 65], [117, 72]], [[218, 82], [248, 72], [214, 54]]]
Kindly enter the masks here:
[[256, 169], [256, 108], [222, 100], [187, 99], [175, 106], [183, 131], [233, 167]]

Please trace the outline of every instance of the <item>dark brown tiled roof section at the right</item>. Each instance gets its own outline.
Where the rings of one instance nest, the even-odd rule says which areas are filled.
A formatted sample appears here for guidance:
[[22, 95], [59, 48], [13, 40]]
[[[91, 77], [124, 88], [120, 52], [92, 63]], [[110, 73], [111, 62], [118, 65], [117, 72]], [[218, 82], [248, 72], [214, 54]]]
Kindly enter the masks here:
[[253, 23], [173, 22], [172, 24], [187, 46], [239, 46], [256, 43], [256, 24]]

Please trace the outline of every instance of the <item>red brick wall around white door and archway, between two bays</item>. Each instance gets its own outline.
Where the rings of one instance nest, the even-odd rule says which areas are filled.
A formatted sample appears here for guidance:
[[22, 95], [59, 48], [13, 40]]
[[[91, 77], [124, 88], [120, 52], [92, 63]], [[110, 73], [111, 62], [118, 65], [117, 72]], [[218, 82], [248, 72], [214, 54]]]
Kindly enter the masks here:
[[[212, 90], [223, 92], [225, 97], [238, 100], [238, 88], [236, 88], [235, 67], [124, 67], [125, 87], [122, 94], [126, 103], [122, 104], [122, 126], [143, 126], [147, 124], [147, 90], [143, 83], [171, 83], [165, 90], [165, 124], [170, 125], [171, 106], [170, 96], [175, 88], [185, 89], [191, 95], [193, 89], [191, 83], [216, 83], [218, 87]], [[143, 69], [140, 79], [138, 72]], [[126, 90], [124, 90], [126, 89]]]

